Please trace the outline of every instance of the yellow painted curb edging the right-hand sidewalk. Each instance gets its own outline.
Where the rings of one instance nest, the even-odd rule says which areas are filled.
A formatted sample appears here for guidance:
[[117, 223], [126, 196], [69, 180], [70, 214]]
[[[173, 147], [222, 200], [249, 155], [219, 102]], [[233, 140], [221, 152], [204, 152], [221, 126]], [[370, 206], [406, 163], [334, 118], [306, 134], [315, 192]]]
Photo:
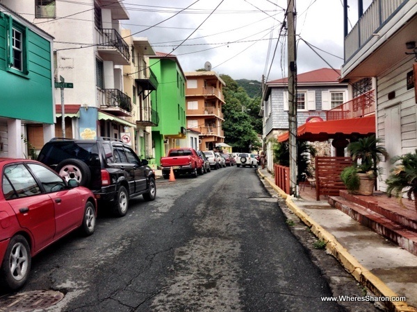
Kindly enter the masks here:
[[[391, 290], [383, 281], [373, 275], [368, 269], [361, 266], [359, 261], [354, 258], [347, 250], [341, 245], [336, 238], [321, 227], [316, 221], [311, 219], [302, 209], [297, 207], [293, 202], [293, 196], [289, 196], [282, 189], [277, 187], [274, 180], [265, 177], [259, 170], [259, 175], [270, 184], [270, 187], [277, 191], [281, 198], [286, 200], [286, 205], [293, 213], [302, 220], [304, 224], [311, 228], [311, 232], [315, 234], [318, 239], [325, 241], [326, 250], [329, 254], [332, 254], [342, 266], [352, 274], [352, 276], [372, 291], [377, 297], [398, 297], [398, 295]], [[395, 312], [417, 312], [417, 309], [413, 306], [408, 306], [406, 302], [384, 302], [390, 311]]]

